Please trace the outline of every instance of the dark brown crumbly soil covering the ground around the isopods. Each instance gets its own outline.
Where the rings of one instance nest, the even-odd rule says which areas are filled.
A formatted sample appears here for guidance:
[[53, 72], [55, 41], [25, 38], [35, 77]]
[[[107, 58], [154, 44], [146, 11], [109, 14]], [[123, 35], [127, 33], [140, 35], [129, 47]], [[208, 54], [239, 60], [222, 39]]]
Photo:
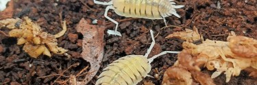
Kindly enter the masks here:
[[[60, 18], [67, 21], [67, 32], [64, 36], [58, 38], [59, 46], [69, 49], [68, 54], [72, 58], [63, 55], [53, 54], [51, 58], [40, 56], [31, 58], [22, 50], [22, 46], [16, 45], [16, 38], [0, 35], [0, 84], [51, 84], [58, 75], [38, 78], [40, 76], [60, 74], [62, 71], [79, 63], [77, 67], [71, 67], [64, 75], [75, 75], [81, 69], [89, 66], [89, 63], [82, 58], [78, 58], [82, 52], [82, 47], [77, 42], [82, 40], [82, 34], [75, 31], [75, 27], [81, 18], [88, 22], [99, 20], [98, 25], [106, 24], [108, 29], [114, 29], [114, 24], [104, 18], [103, 13], [106, 5], [97, 5], [93, 0], [14, 0], [15, 11], [13, 18], [29, 16], [34, 22], [37, 22], [42, 29], [48, 33], [56, 34], [62, 30]], [[103, 0], [99, 0], [103, 1]], [[106, 0], [108, 1], [108, 0]], [[109, 0], [110, 1], [110, 0]], [[175, 25], [181, 28], [164, 27], [163, 20], [149, 19], [126, 19], [118, 16], [110, 10], [108, 16], [119, 22], [119, 29], [123, 37], [114, 35], [104, 36], [104, 57], [101, 68], [97, 75], [101, 73], [103, 67], [126, 55], [145, 54], [149, 43], [151, 42], [150, 33], [145, 29], [153, 29], [156, 35], [156, 46], [150, 56], [158, 54], [164, 50], [182, 50], [182, 40], [165, 39], [167, 35], [174, 31], [184, 31], [192, 29], [194, 26], [199, 29], [199, 33], [204, 39], [226, 41], [228, 33], [234, 31], [236, 35], [247, 37], [257, 37], [257, 2], [256, 0], [227, 0], [220, 1], [221, 8], [217, 6], [216, 0], [179, 0], [177, 4], [186, 5], [177, 12], [182, 18], [169, 16], [166, 18], [169, 25]], [[9, 29], [1, 29], [8, 33]], [[69, 39], [72, 37], [73, 40]], [[152, 81], [154, 84], [161, 84], [163, 72], [173, 65], [176, 61], [176, 54], [166, 54], [156, 58], [152, 65], [149, 75], [155, 75], [160, 72], [159, 78], [145, 78], [145, 81]], [[31, 67], [29, 67], [31, 66]], [[213, 71], [206, 71], [212, 73]], [[96, 77], [97, 77], [96, 75]], [[97, 78], [93, 78], [90, 84], [94, 84]], [[77, 79], [82, 80], [80, 76]], [[59, 80], [66, 80], [62, 77]], [[143, 82], [140, 82], [142, 84]], [[241, 72], [241, 75], [232, 77], [230, 82], [225, 83], [225, 75], [215, 78], [216, 84], [257, 84], [256, 79], [248, 77], [248, 73]]]

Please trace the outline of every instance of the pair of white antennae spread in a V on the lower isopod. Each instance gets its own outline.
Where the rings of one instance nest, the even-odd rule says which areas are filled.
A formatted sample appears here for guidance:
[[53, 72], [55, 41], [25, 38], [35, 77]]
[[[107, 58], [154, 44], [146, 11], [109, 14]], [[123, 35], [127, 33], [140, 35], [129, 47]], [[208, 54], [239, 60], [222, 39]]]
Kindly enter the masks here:
[[[147, 57], [151, 50], [154, 48], [154, 44], [156, 44], [156, 41], [154, 40], [154, 33], [152, 30], [150, 30], [150, 33], [151, 33], [151, 46], [149, 47], [149, 49], [147, 50], [147, 53], [145, 53], [145, 57]], [[179, 51], [164, 51], [164, 52], [161, 52], [160, 54], [157, 54], [151, 58], [148, 59], [149, 63], [153, 62], [154, 61], [154, 58], [157, 58], [158, 56], [162, 56], [163, 54], [167, 54], [167, 53], [171, 53], [171, 54], [178, 54], [180, 53]]]

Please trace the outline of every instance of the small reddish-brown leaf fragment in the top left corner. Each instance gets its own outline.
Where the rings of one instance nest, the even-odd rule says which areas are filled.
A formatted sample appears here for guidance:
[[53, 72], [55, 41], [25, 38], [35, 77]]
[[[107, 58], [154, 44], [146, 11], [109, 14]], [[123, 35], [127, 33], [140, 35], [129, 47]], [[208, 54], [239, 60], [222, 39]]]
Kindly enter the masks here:
[[0, 20], [6, 19], [6, 18], [12, 18], [14, 12], [14, 0], [11, 0], [8, 2], [8, 7], [6, 7], [3, 12], [0, 12]]

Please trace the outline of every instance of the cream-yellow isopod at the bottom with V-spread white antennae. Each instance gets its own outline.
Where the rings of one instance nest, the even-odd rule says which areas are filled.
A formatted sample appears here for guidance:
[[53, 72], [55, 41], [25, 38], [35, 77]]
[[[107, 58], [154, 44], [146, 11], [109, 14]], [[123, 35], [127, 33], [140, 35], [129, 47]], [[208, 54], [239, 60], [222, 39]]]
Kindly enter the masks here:
[[177, 51], [164, 51], [147, 59], [148, 54], [155, 44], [154, 35], [151, 30], [150, 33], [153, 41], [145, 56], [128, 55], [113, 61], [113, 63], [103, 69], [95, 85], [136, 85], [151, 71], [150, 63], [154, 61], [154, 58], [162, 54], [179, 53]]

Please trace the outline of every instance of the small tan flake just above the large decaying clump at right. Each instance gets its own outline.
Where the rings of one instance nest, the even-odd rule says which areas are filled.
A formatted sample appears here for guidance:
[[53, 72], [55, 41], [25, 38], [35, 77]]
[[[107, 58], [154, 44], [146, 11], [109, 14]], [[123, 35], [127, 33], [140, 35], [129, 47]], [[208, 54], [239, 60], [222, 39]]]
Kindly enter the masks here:
[[198, 29], [196, 27], [193, 27], [193, 30], [186, 29], [186, 31], [172, 33], [165, 38], [173, 38], [173, 37], [180, 38], [188, 42], [204, 40], [203, 37], [198, 33]]

